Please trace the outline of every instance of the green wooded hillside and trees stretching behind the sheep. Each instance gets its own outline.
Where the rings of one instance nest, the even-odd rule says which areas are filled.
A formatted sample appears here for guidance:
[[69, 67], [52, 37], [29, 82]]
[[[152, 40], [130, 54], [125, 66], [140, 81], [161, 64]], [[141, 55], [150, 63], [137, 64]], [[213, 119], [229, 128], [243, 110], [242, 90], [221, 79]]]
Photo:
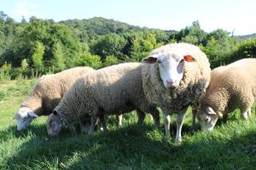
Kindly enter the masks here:
[[170, 42], [199, 46], [212, 68], [237, 59], [256, 57], [255, 34], [233, 36], [221, 28], [206, 32], [195, 20], [180, 31], [131, 26], [95, 17], [84, 20], [16, 22], [0, 12], [0, 80], [37, 77], [79, 65], [95, 69], [127, 61], [141, 61]]

